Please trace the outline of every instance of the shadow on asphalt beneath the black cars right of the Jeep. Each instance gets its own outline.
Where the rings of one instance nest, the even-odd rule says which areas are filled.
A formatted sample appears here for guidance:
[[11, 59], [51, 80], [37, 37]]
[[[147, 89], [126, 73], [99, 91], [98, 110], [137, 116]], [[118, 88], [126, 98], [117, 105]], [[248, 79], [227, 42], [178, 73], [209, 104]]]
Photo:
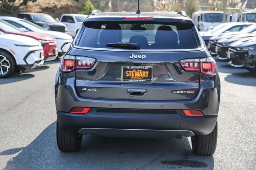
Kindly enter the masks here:
[[256, 86], [256, 73], [241, 67], [232, 67], [226, 60], [216, 60], [217, 70], [221, 73], [230, 73], [224, 79], [230, 83], [239, 85]]

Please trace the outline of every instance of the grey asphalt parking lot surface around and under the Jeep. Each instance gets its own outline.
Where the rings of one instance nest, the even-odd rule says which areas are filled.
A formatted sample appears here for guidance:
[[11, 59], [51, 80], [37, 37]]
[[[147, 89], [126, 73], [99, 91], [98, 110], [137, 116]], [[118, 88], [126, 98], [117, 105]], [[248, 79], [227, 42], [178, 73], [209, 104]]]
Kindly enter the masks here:
[[83, 138], [76, 153], [56, 144], [54, 77], [59, 61], [0, 79], [0, 169], [256, 169], [256, 75], [217, 61], [218, 144], [192, 154], [190, 138]]

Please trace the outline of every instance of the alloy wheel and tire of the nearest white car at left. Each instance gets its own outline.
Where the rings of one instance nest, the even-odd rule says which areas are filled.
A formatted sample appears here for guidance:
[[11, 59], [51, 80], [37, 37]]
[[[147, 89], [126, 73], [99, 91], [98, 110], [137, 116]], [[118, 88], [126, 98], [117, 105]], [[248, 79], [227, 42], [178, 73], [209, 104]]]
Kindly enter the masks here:
[[0, 51], [0, 78], [12, 75], [15, 70], [16, 62], [14, 58], [5, 51]]

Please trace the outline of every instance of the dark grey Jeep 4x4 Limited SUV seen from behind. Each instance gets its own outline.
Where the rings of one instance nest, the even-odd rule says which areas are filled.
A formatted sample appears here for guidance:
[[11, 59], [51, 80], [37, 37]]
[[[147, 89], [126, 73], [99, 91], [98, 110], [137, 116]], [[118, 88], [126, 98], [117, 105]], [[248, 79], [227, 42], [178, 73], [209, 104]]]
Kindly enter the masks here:
[[195, 154], [216, 149], [220, 78], [184, 11], [94, 10], [62, 58], [55, 102], [64, 152], [83, 134], [191, 136]]

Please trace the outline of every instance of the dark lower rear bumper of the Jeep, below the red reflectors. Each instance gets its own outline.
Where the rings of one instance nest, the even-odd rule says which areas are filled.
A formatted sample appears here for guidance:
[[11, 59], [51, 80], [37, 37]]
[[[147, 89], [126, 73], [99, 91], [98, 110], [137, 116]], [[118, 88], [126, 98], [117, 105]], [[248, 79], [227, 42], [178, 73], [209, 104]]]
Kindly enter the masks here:
[[62, 128], [80, 134], [112, 137], [172, 137], [194, 136], [212, 132], [217, 115], [188, 117], [177, 114], [98, 113], [92, 108], [87, 114], [57, 112]]

